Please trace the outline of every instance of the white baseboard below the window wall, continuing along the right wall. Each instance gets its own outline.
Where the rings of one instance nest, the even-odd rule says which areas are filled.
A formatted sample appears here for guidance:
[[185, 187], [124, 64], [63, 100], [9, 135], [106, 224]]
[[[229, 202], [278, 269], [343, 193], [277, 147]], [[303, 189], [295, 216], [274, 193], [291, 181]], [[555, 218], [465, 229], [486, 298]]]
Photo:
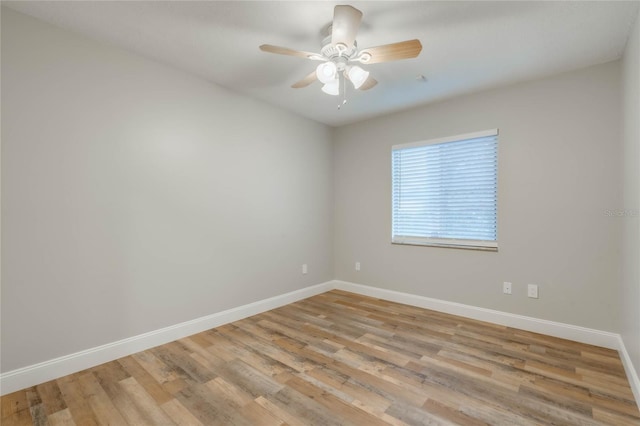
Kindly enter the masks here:
[[627, 374], [629, 384], [631, 385], [631, 390], [633, 391], [633, 395], [636, 399], [636, 404], [638, 404], [638, 407], [640, 408], [640, 378], [638, 378], [638, 373], [633, 367], [631, 357], [627, 352], [622, 336], [619, 334], [523, 315], [510, 314], [508, 312], [495, 311], [492, 309], [479, 308], [476, 306], [464, 305], [462, 303], [432, 299], [409, 293], [401, 293], [398, 291], [346, 281], [334, 280], [331, 281], [330, 284], [333, 288], [339, 290], [375, 297], [377, 299], [389, 300], [391, 302], [403, 303], [405, 305], [416, 306], [419, 308], [432, 309], [434, 311], [459, 315], [465, 318], [487, 321], [494, 324], [532, 331], [534, 333], [541, 333], [589, 345], [615, 349], [620, 354], [620, 359]]

